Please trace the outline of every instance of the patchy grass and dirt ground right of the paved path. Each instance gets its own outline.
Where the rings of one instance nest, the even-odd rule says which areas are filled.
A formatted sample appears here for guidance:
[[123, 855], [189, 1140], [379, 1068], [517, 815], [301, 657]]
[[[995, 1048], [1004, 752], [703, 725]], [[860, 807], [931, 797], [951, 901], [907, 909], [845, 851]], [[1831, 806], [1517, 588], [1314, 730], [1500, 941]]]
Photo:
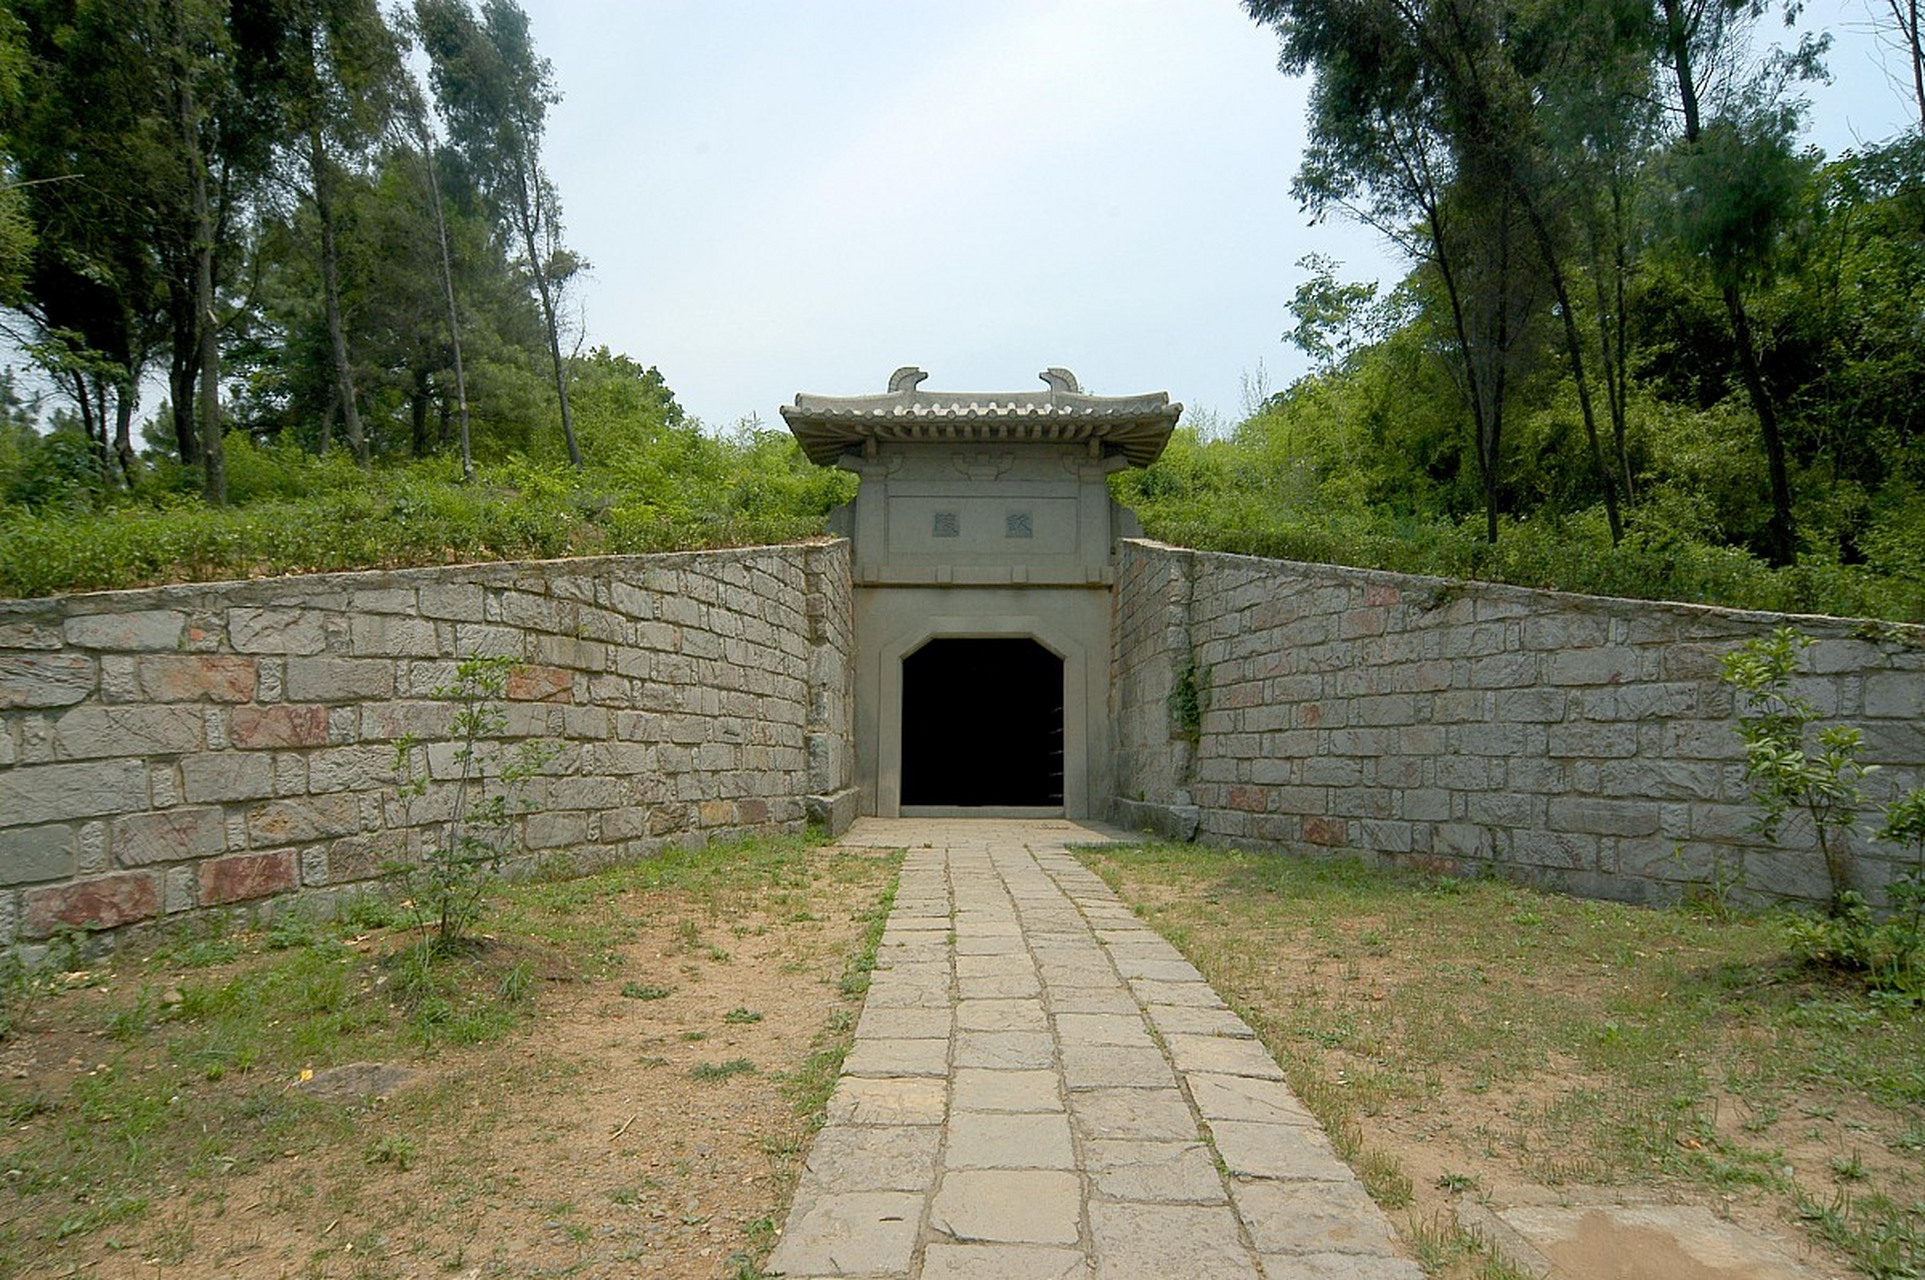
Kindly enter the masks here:
[[1502, 1274], [1438, 1226], [1450, 1195], [1519, 1180], [1742, 1201], [1865, 1274], [1925, 1265], [1925, 1018], [1800, 966], [1786, 916], [1192, 845], [1082, 857], [1257, 1030], [1378, 1203], [1484, 1268], [1446, 1274]]

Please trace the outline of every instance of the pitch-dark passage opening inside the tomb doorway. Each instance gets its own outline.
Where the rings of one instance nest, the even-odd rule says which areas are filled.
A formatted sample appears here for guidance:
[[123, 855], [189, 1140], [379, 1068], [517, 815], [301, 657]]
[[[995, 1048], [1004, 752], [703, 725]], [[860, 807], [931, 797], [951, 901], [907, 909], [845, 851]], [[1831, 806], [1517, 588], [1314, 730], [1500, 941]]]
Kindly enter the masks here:
[[1063, 658], [936, 639], [903, 658], [903, 805], [1063, 803]]

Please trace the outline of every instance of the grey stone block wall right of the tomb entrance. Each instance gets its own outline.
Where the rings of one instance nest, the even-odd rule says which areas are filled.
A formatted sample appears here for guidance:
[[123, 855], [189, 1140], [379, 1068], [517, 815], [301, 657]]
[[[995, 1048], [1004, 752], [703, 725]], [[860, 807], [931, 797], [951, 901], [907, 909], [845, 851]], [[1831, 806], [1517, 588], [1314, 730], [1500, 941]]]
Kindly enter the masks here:
[[[1732, 883], [1823, 901], [1808, 828], [1752, 830], [1719, 654], [1790, 624], [1798, 689], [1863, 730], [1867, 793], [1925, 781], [1925, 627], [1455, 583], [1128, 543], [1115, 814], [1222, 843], [1346, 847], [1598, 897]], [[1205, 685], [1192, 747], [1170, 689]], [[1867, 810], [1869, 812], [1869, 810]], [[1879, 897], [1894, 851], [1858, 841]]]

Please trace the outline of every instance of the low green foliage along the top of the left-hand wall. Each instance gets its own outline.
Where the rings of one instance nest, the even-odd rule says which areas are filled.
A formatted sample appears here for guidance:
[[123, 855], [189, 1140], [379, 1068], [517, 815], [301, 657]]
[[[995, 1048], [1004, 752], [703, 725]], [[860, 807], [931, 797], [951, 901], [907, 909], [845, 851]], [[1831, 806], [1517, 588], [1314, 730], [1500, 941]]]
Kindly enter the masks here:
[[[822, 533], [824, 514], [855, 491], [853, 475], [810, 466], [772, 431], [718, 439], [695, 423], [610, 416], [599, 439], [618, 433], [612, 466], [576, 474], [510, 456], [481, 466], [474, 485], [454, 458], [362, 472], [345, 450], [316, 458], [287, 437], [229, 435], [225, 508], [158, 487], [96, 500], [85, 475], [35, 506], [0, 502], [0, 597], [776, 543]], [[46, 475], [38, 454], [21, 458], [0, 450], [0, 493], [29, 483], [23, 474]]]

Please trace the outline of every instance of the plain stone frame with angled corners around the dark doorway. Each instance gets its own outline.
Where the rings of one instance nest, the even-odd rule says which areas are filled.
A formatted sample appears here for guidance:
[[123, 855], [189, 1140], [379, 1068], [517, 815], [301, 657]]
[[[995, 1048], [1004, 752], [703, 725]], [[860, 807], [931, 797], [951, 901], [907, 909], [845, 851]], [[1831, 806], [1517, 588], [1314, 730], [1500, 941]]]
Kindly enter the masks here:
[[[1090, 653], [1068, 631], [1036, 614], [993, 618], [947, 614], [918, 618], [909, 629], [884, 639], [864, 662], [859, 687], [878, 691], [876, 718], [864, 726], [876, 743], [876, 814], [903, 812], [903, 658], [936, 639], [1030, 639], [1063, 658], [1063, 812], [1090, 814]], [[1105, 664], [1109, 654], [1103, 654]]]

